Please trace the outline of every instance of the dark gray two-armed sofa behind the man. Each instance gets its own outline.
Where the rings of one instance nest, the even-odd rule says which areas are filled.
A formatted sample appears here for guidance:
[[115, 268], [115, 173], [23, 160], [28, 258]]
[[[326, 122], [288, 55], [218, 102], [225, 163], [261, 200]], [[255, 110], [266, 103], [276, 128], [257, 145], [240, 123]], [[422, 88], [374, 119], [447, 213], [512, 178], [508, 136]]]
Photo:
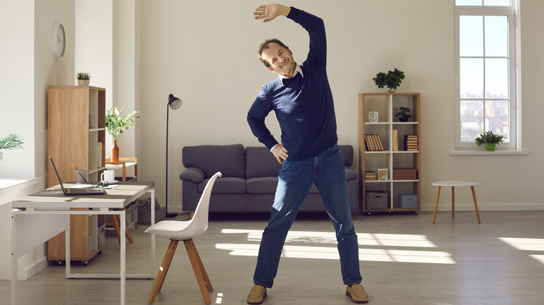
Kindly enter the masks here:
[[[353, 164], [353, 147], [340, 146], [344, 157], [349, 204], [358, 211], [357, 172], [349, 168]], [[183, 210], [194, 211], [208, 179], [216, 172], [222, 178], [216, 180], [210, 199], [210, 212], [270, 212], [278, 185], [280, 163], [264, 147], [234, 145], [186, 146], [183, 148], [183, 166], [179, 175], [183, 180]], [[301, 212], [323, 212], [319, 191], [312, 185]]]

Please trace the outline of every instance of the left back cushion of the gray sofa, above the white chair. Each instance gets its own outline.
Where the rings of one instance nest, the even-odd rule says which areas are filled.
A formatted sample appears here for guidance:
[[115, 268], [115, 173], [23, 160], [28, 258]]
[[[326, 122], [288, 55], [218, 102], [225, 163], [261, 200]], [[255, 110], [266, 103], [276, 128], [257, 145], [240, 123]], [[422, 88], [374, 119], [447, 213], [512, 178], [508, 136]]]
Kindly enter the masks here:
[[182, 153], [183, 166], [202, 169], [206, 179], [211, 178], [218, 171], [222, 173], [222, 177], [224, 177], [222, 179], [226, 177], [244, 178], [245, 176], [245, 157], [242, 144], [185, 146]]

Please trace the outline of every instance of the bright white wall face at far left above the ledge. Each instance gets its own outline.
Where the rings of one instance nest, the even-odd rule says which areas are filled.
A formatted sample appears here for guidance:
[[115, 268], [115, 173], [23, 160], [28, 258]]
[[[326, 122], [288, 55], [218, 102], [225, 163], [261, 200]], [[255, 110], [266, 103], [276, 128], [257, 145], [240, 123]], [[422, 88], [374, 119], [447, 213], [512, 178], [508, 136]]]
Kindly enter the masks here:
[[34, 177], [33, 13], [33, 0], [0, 0], [0, 138], [24, 139], [24, 150], [2, 150], [3, 178]]

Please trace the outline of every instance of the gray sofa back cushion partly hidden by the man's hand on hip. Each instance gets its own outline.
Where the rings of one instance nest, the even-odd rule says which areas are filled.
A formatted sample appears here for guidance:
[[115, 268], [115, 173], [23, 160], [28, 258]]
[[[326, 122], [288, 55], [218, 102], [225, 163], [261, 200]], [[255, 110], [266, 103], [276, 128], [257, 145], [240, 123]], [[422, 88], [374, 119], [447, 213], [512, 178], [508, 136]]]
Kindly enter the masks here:
[[[245, 178], [278, 177], [282, 164], [264, 146], [245, 148]], [[276, 180], [277, 183], [278, 180]], [[249, 187], [249, 186], [248, 186]], [[274, 187], [275, 188], [275, 187]]]

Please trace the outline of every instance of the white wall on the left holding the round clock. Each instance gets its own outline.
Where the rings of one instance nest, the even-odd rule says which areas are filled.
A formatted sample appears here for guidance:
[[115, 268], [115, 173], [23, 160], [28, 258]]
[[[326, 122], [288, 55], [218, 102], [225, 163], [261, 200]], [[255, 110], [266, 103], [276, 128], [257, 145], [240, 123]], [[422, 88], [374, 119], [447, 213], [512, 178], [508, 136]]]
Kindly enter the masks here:
[[[24, 150], [4, 150], [0, 162], [3, 178], [47, 179], [47, 87], [70, 84], [74, 77], [73, 0], [1, 0], [0, 26], [0, 136], [17, 132], [24, 138]], [[55, 23], [66, 30], [66, 54], [52, 52], [51, 31]], [[11, 31], [8, 31], [11, 29]], [[27, 193], [29, 194], [29, 193]], [[24, 195], [27, 195], [24, 194]], [[3, 202], [2, 202], [3, 203]], [[9, 209], [3, 210], [3, 216]], [[3, 231], [3, 234], [9, 231]], [[19, 260], [20, 279], [27, 279], [47, 264], [45, 246]]]

